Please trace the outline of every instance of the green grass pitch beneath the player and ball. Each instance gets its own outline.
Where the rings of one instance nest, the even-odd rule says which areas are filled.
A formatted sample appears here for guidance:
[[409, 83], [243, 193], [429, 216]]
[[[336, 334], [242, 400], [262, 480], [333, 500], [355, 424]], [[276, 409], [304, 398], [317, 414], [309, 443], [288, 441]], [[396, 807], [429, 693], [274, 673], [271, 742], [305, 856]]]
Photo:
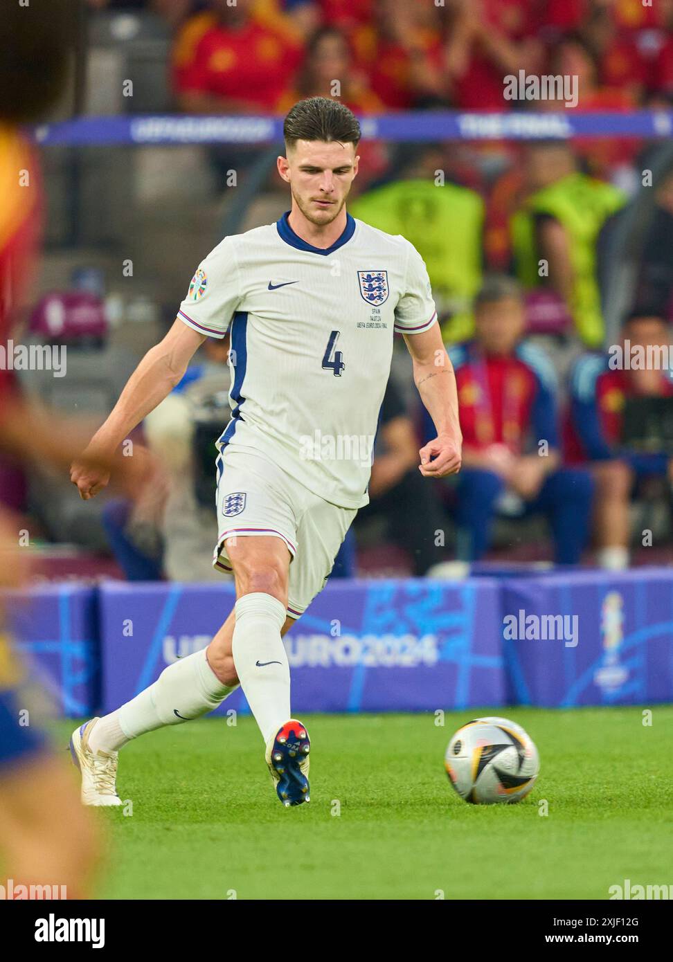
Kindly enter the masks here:
[[[651, 726], [637, 707], [469, 709], [444, 727], [429, 714], [307, 716], [312, 800], [290, 809], [249, 717], [165, 728], [120, 753], [133, 814], [98, 813], [98, 896], [608, 899], [626, 878], [673, 883], [673, 706], [652, 711]], [[461, 723], [501, 713], [537, 744], [537, 783], [517, 805], [466, 804], [445, 747]], [[72, 727], [59, 722], [60, 742]]]

